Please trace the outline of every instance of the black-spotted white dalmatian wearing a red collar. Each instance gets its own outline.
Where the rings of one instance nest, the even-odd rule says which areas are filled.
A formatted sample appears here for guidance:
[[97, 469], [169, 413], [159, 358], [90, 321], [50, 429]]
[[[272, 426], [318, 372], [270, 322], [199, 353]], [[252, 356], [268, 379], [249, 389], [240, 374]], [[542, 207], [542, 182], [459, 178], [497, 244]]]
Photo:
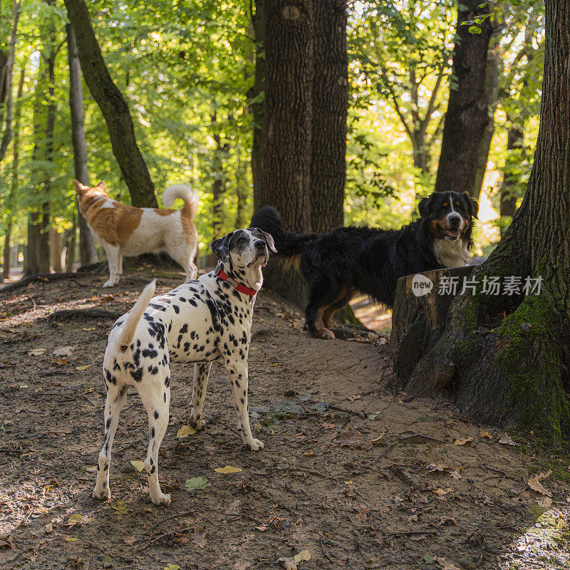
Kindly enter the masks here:
[[239, 432], [252, 451], [264, 447], [254, 439], [247, 411], [247, 356], [255, 296], [261, 268], [276, 253], [273, 238], [258, 228], [238, 229], [212, 242], [217, 268], [170, 293], [153, 298], [148, 284], [128, 314], [110, 332], [103, 380], [105, 440], [99, 453], [95, 499], [110, 499], [111, 446], [129, 386], [138, 391], [148, 415], [150, 440], [145, 470], [154, 504], [170, 504], [158, 482], [158, 450], [168, 425], [170, 361], [194, 364], [192, 411], [197, 430], [204, 429], [202, 406], [212, 362], [223, 363], [232, 382]]

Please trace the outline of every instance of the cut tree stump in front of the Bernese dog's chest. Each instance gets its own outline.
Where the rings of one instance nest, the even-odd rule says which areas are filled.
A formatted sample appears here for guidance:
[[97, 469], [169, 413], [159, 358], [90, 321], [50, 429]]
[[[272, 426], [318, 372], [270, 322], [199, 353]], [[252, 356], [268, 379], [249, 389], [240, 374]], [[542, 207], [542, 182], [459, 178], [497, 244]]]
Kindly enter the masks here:
[[[416, 364], [439, 340], [451, 302], [461, 292], [463, 278], [472, 270], [472, 266], [437, 269], [398, 279], [390, 344], [395, 349], [393, 368], [400, 380], [408, 379]], [[455, 294], [448, 292], [449, 287], [440, 292], [442, 279], [454, 277]]]

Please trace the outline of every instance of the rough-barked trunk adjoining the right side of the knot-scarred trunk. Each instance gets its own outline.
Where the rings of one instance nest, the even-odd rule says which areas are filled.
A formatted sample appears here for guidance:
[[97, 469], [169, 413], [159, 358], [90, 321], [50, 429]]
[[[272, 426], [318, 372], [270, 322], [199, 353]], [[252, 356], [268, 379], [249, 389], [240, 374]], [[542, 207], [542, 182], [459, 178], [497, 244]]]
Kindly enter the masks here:
[[316, 0], [314, 8], [311, 226], [342, 226], [346, 182], [348, 52], [346, 0]]

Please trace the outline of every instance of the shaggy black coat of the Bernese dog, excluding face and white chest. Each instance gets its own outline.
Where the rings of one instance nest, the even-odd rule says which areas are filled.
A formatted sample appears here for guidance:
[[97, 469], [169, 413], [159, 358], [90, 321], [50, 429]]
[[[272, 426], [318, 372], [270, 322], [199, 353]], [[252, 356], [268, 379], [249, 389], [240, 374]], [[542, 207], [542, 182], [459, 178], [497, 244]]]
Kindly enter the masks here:
[[[422, 217], [397, 230], [339, 227], [323, 235], [295, 234], [284, 229], [279, 212], [270, 206], [254, 214], [252, 227], [273, 236], [279, 257], [300, 257], [300, 269], [309, 285], [305, 309], [309, 332], [334, 338], [326, 329], [330, 318], [356, 291], [393, 306], [400, 277], [443, 267], [435, 257], [435, 238], [430, 232], [432, 214], [437, 215], [431, 212], [432, 202], [423, 200]], [[465, 218], [471, 222], [470, 204], [466, 208]], [[463, 239], [471, 245], [471, 224]]]

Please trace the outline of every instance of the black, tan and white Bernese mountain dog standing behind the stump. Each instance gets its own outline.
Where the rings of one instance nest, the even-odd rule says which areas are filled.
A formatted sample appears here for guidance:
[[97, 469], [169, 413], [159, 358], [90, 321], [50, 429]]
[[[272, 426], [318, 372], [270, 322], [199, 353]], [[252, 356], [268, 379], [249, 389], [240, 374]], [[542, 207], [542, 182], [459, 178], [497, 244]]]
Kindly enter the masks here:
[[309, 285], [309, 332], [334, 338], [327, 328], [331, 317], [357, 291], [392, 306], [398, 278], [465, 265], [477, 208], [467, 193], [434, 192], [421, 200], [420, 219], [397, 230], [339, 227], [323, 235], [294, 234], [269, 206], [254, 214], [252, 226], [274, 237], [279, 257], [299, 263]]

